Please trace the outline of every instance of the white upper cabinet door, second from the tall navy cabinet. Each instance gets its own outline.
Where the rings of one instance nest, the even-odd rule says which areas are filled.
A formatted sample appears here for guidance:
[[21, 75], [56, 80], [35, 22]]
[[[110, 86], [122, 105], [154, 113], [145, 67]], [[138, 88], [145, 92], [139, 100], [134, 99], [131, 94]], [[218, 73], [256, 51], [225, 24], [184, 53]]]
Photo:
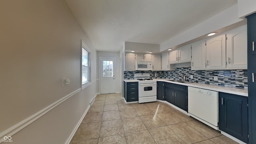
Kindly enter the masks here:
[[226, 68], [226, 36], [221, 35], [207, 40], [206, 45], [206, 68]]

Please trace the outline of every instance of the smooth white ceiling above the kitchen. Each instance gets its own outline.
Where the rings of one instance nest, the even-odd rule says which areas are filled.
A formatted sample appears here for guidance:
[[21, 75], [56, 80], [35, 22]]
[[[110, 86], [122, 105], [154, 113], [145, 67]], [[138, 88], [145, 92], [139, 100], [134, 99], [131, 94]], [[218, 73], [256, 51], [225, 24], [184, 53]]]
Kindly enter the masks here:
[[161, 44], [237, 4], [237, 0], [66, 0], [98, 51], [124, 42]]

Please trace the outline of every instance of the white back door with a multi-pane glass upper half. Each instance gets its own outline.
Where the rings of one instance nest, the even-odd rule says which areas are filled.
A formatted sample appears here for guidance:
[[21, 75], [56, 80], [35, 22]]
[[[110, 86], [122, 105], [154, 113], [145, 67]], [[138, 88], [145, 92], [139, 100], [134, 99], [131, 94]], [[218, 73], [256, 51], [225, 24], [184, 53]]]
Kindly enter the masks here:
[[115, 58], [100, 58], [100, 93], [115, 93]]

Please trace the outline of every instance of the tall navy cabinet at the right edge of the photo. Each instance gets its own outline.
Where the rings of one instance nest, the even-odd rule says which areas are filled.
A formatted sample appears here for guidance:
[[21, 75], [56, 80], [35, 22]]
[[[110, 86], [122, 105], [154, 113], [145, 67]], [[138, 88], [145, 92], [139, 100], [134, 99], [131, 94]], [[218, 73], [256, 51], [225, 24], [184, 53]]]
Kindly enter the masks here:
[[[256, 144], [256, 13], [247, 18], [249, 144]], [[254, 79], [253, 79], [254, 78]]]

